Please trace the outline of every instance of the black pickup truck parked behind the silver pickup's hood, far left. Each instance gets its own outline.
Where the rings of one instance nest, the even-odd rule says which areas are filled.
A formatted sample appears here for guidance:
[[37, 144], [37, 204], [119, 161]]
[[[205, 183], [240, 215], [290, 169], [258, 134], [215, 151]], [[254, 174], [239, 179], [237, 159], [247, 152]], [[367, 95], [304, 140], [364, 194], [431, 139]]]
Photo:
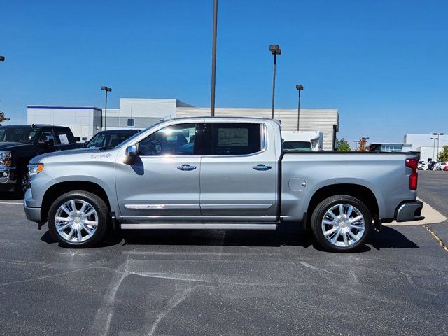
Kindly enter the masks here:
[[0, 192], [22, 193], [29, 160], [52, 151], [77, 148], [69, 127], [12, 125], [0, 127]]

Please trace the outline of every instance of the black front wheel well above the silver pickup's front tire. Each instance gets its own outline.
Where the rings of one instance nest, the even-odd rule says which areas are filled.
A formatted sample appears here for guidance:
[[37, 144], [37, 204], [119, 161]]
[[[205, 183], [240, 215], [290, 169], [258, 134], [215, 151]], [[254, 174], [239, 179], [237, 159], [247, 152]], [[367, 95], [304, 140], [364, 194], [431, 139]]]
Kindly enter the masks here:
[[48, 188], [48, 190], [45, 192], [45, 195], [43, 195], [41, 207], [41, 219], [43, 223], [48, 220], [48, 211], [50, 210], [51, 204], [55, 202], [57, 197], [73, 190], [84, 190], [93, 193], [98, 197], [101, 197], [102, 200], [106, 202], [109, 210], [111, 209], [111, 204], [109, 203], [109, 198], [107, 197], [106, 191], [104, 191], [104, 189], [97, 183], [86, 181], [61, 182]]

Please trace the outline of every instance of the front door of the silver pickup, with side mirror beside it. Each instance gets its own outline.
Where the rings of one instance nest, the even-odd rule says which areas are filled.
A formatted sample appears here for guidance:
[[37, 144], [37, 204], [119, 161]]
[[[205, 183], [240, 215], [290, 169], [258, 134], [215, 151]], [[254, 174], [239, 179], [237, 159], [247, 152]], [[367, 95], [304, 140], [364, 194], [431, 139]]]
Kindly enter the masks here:
[[195, 123], [167, 126], [139, 142], [139, 155], [133, 165], [118, 158], [116, 189], [124, 221], [187, 221], [200, 217], [196, 132]]

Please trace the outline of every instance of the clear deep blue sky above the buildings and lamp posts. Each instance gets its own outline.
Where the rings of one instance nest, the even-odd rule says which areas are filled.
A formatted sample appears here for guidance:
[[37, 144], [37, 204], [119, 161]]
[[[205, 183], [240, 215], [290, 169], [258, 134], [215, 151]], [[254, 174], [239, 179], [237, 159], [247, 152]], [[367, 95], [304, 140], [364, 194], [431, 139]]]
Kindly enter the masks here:
[[[0, 111], [120, 97], [209, 106], [213, 0], [0, 0]], [[448, 1], [220, 0], [216, 106], [337, 108], [339, 137], [448, 132]], [[353, 142], [351, 142], [353, 144]]]

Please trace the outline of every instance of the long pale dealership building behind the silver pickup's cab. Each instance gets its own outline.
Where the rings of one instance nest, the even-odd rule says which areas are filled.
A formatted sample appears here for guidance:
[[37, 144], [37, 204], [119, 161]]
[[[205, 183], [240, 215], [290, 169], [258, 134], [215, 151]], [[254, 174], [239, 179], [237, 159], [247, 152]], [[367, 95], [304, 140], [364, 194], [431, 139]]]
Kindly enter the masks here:
[[[178, 99], [120, 98], [120, 109], [94, 106], [28, 106], [29, 124], [63, 125], [71, 128], [78, 141], [87, 141], [100, 130], [118, 128], [144, 129], [168, 118], [209, 116], [210, 109], [195, 107]], [[271, 109], [216, 108], [215, 116], [270, 118]], [[282, 130], [297, 130], [297, 109], [275, 109]], [[335, 148], [339, 131], [337, 109], [300, 109], [300, 130], [323, 132], [323, 150]]]

